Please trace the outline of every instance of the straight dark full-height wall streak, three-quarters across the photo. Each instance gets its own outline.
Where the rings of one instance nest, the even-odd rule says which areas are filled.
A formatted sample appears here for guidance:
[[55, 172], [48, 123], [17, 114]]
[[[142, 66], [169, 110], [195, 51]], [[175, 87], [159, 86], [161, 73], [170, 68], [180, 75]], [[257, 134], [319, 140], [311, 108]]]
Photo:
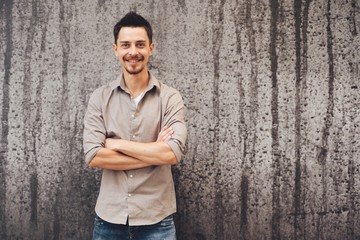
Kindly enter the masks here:
[[271, 219], [271, 239], [281, 239], [280, 236], [280, 146], [279, 146], [279, 113], [278, 113], [278, 56], [276, 52], [276, 41], [278, 36], [277, 22], [279, 19], [279, 2], [277, 0], [269, 0], [271, 10], [270, 22], [270, 58], [271, 58], [271, 81], [272, 81], [272, 94], [271, 94], [271, 116], [272, 116], [272, 166], [273, 166], [273, 186], [272, 186], [272, 219]]

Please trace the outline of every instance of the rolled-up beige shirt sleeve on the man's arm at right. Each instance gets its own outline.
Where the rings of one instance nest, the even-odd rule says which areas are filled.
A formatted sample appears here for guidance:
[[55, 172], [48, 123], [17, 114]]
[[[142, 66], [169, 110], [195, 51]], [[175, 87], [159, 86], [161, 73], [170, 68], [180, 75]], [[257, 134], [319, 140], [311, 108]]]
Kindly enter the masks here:
[[167, 142], [180, 162], [184, 156], [187, 138], [185, 124], [185, 106], [179, 92], [174, 91], [166, 104], [163, 126], [171, 127], [174, 131], [172, 138]]

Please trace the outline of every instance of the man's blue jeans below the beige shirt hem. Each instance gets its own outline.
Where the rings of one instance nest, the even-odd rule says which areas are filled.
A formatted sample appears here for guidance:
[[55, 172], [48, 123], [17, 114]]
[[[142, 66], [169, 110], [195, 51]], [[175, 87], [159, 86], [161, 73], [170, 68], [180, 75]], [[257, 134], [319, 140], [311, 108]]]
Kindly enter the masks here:
[[176, 240], [173, 216], [154, 225], [129, 226], [95, 218], [93, 240]]

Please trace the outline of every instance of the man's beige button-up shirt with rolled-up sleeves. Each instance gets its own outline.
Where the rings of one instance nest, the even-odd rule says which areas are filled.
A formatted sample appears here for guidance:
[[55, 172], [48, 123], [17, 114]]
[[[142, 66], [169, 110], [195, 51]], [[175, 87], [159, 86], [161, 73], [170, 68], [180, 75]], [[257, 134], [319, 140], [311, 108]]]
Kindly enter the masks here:
[[[174, 133], [167, 142], [180, 161], [187, 136], [184, 104], [175, 89], [150, 74], [149, 85], [136, 106], [119, 77], [94, 91], [84, 118], [84, 153], [89, 163], [106, 138], [155, 142], [164, 126]], [[117, 224], [154, 224], [176, 211], [170, 165], [127, 171], [103, 169], [95, 211], [105, 221]]]

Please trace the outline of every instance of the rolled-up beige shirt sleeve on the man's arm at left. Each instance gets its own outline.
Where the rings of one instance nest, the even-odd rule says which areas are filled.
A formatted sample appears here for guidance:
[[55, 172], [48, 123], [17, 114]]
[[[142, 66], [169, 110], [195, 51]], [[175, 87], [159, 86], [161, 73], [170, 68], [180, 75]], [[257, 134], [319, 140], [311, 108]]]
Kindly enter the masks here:
[[85, 162], [89, 164], [96, 153], [104, 147], [106, 129], [101, 111], [99, 89], [90, 96], [84, 117], [84, 155]]

